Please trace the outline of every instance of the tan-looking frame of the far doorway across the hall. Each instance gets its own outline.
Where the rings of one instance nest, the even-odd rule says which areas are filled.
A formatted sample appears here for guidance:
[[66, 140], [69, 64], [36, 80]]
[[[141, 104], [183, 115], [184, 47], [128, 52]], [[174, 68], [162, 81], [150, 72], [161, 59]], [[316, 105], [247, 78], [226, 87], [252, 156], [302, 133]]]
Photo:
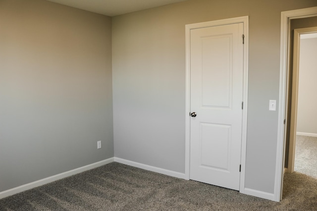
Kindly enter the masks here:
[[289, 154], [287, 172], [294, 172], [295, 161], [295, 139], [297, 126], [297, 105], [298, 105], [298, 79], [299, 79], [299, 51], [300, 51], [300, 35], [316, 33], [317, 27], [294, 29], [294, 47], [293, 47], [293, 83], [292, 83], [292, 99], [291, 99], [291, 123], [289, 136]]

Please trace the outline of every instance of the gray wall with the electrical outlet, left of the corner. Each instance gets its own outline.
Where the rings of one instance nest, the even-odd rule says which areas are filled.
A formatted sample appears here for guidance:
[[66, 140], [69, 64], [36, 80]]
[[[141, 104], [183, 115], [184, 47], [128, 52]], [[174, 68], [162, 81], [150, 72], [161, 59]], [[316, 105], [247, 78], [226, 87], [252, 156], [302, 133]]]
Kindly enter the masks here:
[[111, 80], [110, 17], [0, 0], [0, 191], [112, 158]]

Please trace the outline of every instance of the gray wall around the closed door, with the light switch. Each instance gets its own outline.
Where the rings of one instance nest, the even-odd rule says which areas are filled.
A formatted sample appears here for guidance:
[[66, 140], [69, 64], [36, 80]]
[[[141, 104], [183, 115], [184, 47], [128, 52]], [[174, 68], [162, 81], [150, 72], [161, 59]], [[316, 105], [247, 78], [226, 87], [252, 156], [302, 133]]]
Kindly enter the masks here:
[[112, 18], [115, 157], [184, 173], [185, 24], [249, 15], [245, 186], [273, 193], [278, 112], [268, 102], [279, 97], [281, 11], [312, 6], [189, 0]]

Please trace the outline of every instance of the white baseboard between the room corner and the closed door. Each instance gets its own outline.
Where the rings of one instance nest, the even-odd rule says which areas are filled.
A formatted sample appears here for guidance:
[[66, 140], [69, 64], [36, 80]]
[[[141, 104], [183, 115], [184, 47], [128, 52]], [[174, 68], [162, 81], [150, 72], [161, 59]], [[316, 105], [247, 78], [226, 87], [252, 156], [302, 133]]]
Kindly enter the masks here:
[[160, 174], [165, 174], [168, 176], [173, 176], [173, 177], [177, 177], [177, 178], [181, 178], [181, 179], [186, 179], [185, 174], [184, 173], [180, 173], [177, 171], [171, 171], [171, 170], [167, 170], [164, 168], [159, 168], [159, 167], [155, 167], [152, 165], [147, 165], [147, 164], [143, 164], [143, 163], [139, 163], [139, 162], [134, 162], [131, 160], [127, 160], [127, 159], [122, 159], [122, 158], [116, 158], [114, 157], [114, 162], [119, 162], [122, 164], [126, 164], [126, 165], [130, 165], [130, 166], [134, 166], [137, 168], [142, 168], [145, 170], [149, 170], [149, 171], [154, 171]]

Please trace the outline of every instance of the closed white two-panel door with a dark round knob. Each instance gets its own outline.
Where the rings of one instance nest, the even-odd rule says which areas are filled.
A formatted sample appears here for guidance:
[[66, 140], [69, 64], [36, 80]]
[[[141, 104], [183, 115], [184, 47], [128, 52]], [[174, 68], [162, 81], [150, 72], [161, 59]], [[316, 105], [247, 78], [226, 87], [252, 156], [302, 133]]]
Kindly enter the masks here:
[[190, 32], [190, 179], [234, 190], [240, 186], [242, 37], [243, 23]]

